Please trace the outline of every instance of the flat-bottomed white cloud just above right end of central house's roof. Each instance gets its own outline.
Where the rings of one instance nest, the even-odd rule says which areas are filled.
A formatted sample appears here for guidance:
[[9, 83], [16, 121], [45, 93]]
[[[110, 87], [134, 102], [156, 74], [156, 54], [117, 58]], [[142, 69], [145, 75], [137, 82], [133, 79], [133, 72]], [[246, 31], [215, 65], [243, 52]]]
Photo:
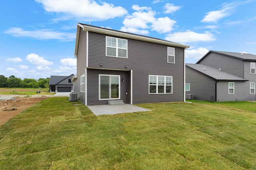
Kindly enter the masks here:
[[209, 31], [204, 33], [195, 33], [193, 31], [187, 30], [186, 32], [176, 32], [169, 34], [166, 38], [168, 41], [179, 42], [179, 43], [191, 43], [199, 41], [214, 41], [214, 35]]

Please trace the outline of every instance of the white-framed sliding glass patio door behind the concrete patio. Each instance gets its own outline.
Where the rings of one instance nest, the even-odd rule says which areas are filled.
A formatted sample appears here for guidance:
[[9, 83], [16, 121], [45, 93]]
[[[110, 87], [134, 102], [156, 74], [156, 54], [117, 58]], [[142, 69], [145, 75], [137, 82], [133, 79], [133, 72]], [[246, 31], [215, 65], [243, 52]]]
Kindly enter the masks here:
[[120, 99], [120, 75], [99, 75], [99, 100]]

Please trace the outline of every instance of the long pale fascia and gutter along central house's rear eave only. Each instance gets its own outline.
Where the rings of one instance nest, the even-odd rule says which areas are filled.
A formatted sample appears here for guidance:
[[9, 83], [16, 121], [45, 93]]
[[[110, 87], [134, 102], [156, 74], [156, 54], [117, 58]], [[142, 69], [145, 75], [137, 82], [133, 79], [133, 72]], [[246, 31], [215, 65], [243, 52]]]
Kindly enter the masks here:
[[115, 30], [112, 30], [112, 29], [92, 27], [90, 25], [82, 25], [82, 24], [79, 24], [79, 23], [78, 23], [78, 25], [80, 27], [83, 27], [83, 31], [92, 31], [92, 32], [103, 33], [103, 34], [108, 34], [108, 35], [115, 35], [115, 36], [119, 36], [119, 37], [126, 37], [126, 38], [130, 38], [130, 39], [137, 39], [137, 40], [141, 40], [141, 41], [148, 41], [148, 42], [152, 42], [152, 43], [170, 45], [170, 46], [174, 46], [174, 47], [182, 47], [184, 49], [187, 49], [187, 48], [190, 47], [188, 45], [174, 43], [174, 42], [171, 42], [171, 41], [165, 41], [165, 40], [162, 40], [162, 39], [156, 39], [156, 38], [152, 38], [152, 37], [146, 37], [146, 36], [141, 36], [141, 35], [136, 35], [136, 34], [131, 34], [131, 33], [125, 33], [125, 32], [122, 32], [122, 31], [115, 31]]

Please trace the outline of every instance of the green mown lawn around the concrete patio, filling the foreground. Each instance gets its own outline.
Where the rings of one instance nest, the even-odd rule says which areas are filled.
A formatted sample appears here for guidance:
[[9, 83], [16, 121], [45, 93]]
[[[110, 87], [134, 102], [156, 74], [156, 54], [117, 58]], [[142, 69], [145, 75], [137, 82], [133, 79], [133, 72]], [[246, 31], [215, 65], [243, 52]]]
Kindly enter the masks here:
[[74, 103], [48, 98], [0, 126], [0, 169], [256, 169], [256, 103], [100, 116]]

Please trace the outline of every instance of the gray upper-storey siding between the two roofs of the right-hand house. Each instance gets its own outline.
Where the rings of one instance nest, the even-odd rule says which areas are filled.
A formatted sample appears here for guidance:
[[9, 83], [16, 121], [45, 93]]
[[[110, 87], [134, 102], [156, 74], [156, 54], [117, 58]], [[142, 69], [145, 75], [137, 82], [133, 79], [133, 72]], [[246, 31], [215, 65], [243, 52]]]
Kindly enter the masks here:
[[209, 53], [197, 64], [206, 64], [217, 69], [220, 68], [222, 71], [244, 78], [244, 63], [240, 59]]

